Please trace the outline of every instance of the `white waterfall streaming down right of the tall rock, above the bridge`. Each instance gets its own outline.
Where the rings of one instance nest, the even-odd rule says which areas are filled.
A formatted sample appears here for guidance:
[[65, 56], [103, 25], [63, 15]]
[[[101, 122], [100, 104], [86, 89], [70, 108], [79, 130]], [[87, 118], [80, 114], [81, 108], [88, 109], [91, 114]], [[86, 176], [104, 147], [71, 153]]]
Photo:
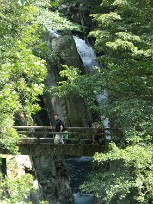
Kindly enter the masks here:
[[[87, 68], [87, 73], [90, 73], [90, 71], [93, 69], [93, 66], [99, 67], [98, 63], [95, 61], [96, 54], [94, 53], [93, 48], [83, 39], [80, 39], [77, 36], [73, 36], [78, 54], [80, 55], [84, 66]], [[102, 104], [107, 105], [107, 92], [104, 91], [104, 93], [97, 95], [97, 101], [99, 106]], [[106, 118], [104, 115], [101, 115], [101, 121], [104, 128], [110, 128], [109, 125], [109, 119]], [[110, 132], [108, 130], [105, 131], [106, 139], [110, 140]]]

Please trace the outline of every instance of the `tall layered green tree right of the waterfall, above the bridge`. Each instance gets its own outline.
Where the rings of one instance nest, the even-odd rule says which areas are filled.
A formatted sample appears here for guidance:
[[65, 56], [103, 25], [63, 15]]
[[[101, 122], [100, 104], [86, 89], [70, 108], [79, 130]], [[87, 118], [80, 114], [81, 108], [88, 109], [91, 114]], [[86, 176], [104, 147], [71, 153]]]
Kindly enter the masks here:
[[103, 1], [101, 13], [93, 15], [98, 27], [90, 33], [107, 67], [100, 79], [109, 96], [109, 118], [142, 134], [153, 132], [152, 11], [151, 1]]

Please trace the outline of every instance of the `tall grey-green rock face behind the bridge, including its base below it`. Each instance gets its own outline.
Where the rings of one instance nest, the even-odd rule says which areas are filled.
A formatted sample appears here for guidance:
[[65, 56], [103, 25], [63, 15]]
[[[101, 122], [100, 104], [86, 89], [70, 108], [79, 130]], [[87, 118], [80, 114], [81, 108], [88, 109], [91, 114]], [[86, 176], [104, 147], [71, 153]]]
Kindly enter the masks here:
[[[48, 45], [56, 56], [56, 60], [48, 62], [47, 65], [48, 75], [45, 85], [48, 90], [57, 86], [57, 81], [60, 79], [59, 71], [63, 69], [61, 64], [78, 67], [84, 73], [84, 66], [72, 35], [62, 35], [56, 38], [49, 35]], [[90, 114], [84, 101], [76, 93], [61, 99], [52, 96], [48, 91], [43, 95], [43, 101], [52, 125], [54, 125], [54, 113], [58, 113], [61, 119], [65, 119], [67, 126], [87, 126], [90, 122]], [[50, 204], [73, 203], [64, 158], [37, 155], [32, 157], [32, 160], [41, 188], [42, 200]]]

